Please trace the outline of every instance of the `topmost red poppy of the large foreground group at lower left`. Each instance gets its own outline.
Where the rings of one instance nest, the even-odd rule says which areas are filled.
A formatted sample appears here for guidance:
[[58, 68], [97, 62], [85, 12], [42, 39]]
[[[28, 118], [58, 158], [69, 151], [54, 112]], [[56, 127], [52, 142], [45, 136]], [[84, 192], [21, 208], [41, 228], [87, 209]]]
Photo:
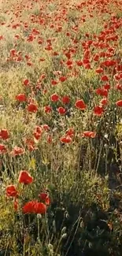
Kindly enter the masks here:
[[31, 177], [31, 175], [26, 170], [20, 171], [18, 181], [19, 183], [31, 184], [33, 182], [33, 177]]

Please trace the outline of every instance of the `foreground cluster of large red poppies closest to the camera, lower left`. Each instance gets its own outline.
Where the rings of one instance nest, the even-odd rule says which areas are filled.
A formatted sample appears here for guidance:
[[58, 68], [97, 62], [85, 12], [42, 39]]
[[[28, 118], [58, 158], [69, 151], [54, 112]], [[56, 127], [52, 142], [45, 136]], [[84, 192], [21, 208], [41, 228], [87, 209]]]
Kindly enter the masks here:
[[[20, 184], [28, 185], [33, 182], [33, 177], [28, 171], [22, 170], [20, 171], [18, 182]], [[20, 193], [15, 185], [11, 184], [6, 187], [6, 196], [14, 198], [13, 204], [15, 210], [18, 210], [19, 207], [19, 195]], [[46, 213], [46, 208], [50, 205], [50, 197], [46, 192], [42, 192], [39, 194], [39, 199], [42, 202], [39, 202], [38, 200], [26, 202], [24, 206], [22, 206], [23, 213]]]

